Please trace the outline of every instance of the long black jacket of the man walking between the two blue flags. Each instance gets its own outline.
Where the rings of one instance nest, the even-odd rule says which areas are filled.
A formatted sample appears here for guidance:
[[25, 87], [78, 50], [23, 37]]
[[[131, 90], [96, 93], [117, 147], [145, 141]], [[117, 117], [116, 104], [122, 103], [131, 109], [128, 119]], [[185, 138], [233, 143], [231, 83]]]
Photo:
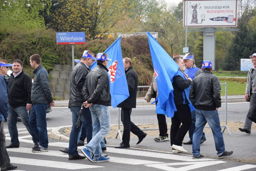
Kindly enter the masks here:
[[130, 66], [125, 70], [125, 76], [127, 80], [128, 90], [130, 97], [120, 103], [117, 107], [122, 108], [136, 108], [136, 96], [138, 88], [138, 74], [133, 66]]

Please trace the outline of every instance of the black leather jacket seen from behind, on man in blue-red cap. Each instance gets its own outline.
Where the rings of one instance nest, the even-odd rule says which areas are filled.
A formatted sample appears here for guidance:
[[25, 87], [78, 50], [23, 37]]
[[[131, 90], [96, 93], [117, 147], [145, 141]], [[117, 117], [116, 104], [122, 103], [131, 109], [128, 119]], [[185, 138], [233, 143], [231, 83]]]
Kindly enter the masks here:
[[204, 70], [192, 81], [189, 100], [196, 109], [216, 110], [221, 107], [221, 85], [217, 76]]

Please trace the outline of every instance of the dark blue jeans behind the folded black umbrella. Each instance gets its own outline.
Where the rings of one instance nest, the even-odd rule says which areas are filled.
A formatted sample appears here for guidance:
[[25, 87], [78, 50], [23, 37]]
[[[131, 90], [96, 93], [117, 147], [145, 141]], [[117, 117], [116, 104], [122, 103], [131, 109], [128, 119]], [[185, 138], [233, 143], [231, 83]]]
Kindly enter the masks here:
[[84, 127], [86, 129], [87, 141], [90, 141], [92, 138], [92, 116], [89, 108], [83, 107], [80, 127], [76, 127], [76, 122], [79, 117], [81, 107], [75, 106], [70, 107], [72, 112], [72, 129], [69, 136], [69, 156], [78, 155], [77, 143], [79, 134], [81, 134], [81, 129]]

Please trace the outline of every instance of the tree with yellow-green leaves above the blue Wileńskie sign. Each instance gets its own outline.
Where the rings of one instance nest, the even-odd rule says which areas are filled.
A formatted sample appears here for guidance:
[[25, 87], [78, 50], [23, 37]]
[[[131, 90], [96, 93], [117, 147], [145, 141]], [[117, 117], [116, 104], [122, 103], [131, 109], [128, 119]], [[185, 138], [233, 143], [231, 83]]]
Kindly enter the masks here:
[[61, 32], [85, 32], [90, 39], [109, 32], [133, 7], [129, 0], [59, 0], [59, 3], [62, 8], [52, 14], [54, 27]]

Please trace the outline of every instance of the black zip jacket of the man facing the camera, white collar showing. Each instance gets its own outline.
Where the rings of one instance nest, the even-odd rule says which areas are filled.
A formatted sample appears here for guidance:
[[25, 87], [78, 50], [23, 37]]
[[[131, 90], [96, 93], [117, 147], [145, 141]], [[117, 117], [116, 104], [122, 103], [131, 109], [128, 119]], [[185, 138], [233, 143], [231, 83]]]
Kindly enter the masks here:
[[14, 78], [13, 73], [9, 77], [9, 91], [8, 103], [12, 108], [27, 106], [31, 102], [31, 77], [21, 71], [21, 73]]

